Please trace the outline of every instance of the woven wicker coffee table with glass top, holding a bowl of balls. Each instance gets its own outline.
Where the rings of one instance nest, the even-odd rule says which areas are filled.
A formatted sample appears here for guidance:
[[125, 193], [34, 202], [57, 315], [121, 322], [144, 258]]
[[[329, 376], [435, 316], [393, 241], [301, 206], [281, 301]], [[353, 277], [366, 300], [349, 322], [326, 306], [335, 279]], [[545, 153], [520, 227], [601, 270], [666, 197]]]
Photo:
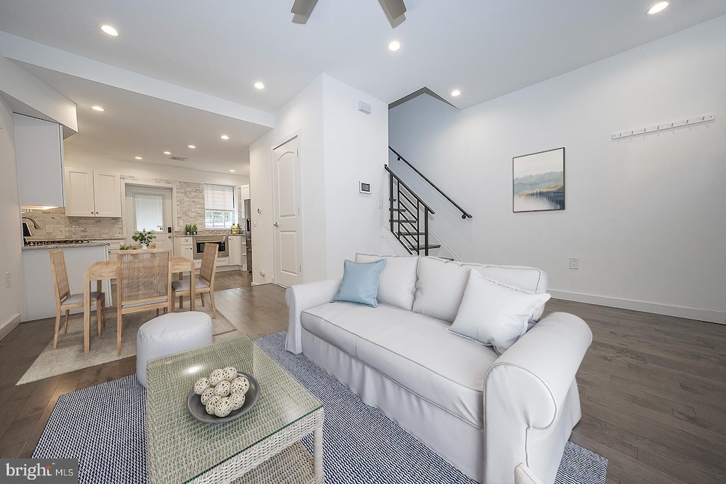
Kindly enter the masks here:
[[[260, 386], [244, 415], [201, 422], [187, 410], [194, 383], [234, 366]], [[323, 483], [322, 404], [243, 336], [147, 364], [146, 434], [152, 483]], [[313, 433], [313, 456], [300, 442]]]

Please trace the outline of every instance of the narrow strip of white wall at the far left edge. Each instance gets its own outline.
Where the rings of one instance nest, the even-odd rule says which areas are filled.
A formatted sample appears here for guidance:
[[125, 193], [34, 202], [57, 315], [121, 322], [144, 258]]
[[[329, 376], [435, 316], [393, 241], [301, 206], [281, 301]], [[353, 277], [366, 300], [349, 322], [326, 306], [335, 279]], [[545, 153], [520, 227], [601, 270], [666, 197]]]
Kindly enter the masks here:
[[[0, 337], [3, 337], [20, 321], [20, 313], [25, 308], [25, 289], [12, 111], [1, 98], [0, 168]], [[10, 287], [5, 287], [6, 272], [10, 273]]]

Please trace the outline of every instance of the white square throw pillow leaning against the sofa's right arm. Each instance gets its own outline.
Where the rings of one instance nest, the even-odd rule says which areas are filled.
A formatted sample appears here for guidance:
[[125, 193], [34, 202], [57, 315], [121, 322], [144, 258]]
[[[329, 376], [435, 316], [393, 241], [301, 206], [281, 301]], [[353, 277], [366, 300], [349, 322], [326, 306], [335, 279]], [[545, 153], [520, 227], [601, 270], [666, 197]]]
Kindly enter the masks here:
[[500, 355], [527, 330], [534, 311], [550, 299], [482, 276], [472, 269], [454, 324], [446, 331], [483, 345]]

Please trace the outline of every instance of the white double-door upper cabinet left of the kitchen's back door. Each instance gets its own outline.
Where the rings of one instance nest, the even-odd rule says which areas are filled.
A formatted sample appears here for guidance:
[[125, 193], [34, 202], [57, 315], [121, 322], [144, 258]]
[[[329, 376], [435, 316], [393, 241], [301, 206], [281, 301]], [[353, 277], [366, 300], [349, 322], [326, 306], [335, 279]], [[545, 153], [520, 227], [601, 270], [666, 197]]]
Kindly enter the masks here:
[[66, 168], [65, 215], [121, 217], [121, 175]]

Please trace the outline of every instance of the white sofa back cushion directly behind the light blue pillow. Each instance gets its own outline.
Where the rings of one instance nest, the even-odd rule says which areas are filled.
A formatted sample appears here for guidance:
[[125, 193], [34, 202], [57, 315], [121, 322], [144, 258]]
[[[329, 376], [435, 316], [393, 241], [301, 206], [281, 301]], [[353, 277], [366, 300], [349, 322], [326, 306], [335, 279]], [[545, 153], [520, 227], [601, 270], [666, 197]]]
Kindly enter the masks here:
[[378, 281], [378, 302], [411, 311], [416, 294], [417, 255], [356, 254], [356, 262], [386, 261]]

